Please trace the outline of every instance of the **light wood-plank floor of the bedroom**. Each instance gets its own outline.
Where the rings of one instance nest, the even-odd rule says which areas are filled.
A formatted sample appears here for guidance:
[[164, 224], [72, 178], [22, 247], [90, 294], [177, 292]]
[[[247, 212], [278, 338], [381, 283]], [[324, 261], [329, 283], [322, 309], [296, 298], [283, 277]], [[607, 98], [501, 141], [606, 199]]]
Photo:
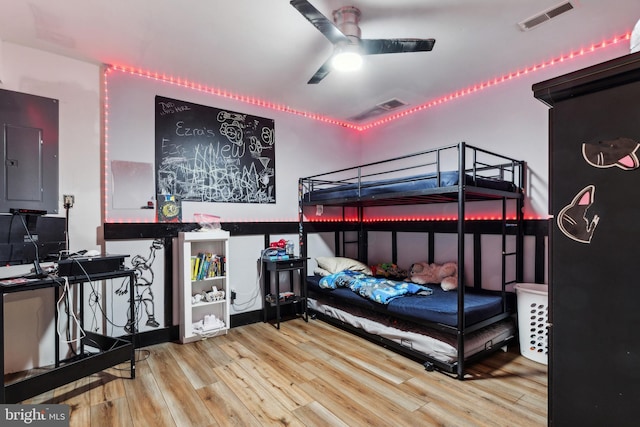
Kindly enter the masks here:
[[64, 403], [71, 426], [545, 426], [546, 366], [498, 352], [458, 381], [318, 320], [234, 328], [139, 351], [128, 364], [24, 403]]

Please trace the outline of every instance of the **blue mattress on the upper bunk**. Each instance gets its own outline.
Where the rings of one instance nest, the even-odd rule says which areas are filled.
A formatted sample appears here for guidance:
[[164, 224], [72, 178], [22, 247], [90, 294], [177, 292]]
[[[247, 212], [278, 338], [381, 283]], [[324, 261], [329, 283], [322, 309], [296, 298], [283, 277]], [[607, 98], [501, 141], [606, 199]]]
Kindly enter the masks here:
[[[333, 185], [324, 183], [324, 188], [314, 189], [305, 193], [306, 202], [322, 202], [332, 199], [365, 198], [388, 193], [420, 192], [424, 190], [457, 186], [459, 176], [457, 171], [441, 172], [438, 182], [437, 174], [414, 175], [403, 178], [391, 178], [376, 181], [363, 181], [357, 183]], [[516, 186], [510, 181], [501, 181], [488, 178], [466, 175], [466, 185], [490, 188], [501, 191], [516, 191]]]

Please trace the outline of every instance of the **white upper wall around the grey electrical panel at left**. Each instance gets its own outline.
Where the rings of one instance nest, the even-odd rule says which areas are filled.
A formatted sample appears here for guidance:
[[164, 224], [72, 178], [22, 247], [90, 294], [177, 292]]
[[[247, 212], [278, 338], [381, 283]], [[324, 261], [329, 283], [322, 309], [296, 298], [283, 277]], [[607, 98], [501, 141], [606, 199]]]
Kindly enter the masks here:
[[75, 195], [70, 211], [71, 249], [96, 249], [100, 217], [101, 91], [99, 67], [3, 43], [0, 88], [58, 99], [60, 195]]

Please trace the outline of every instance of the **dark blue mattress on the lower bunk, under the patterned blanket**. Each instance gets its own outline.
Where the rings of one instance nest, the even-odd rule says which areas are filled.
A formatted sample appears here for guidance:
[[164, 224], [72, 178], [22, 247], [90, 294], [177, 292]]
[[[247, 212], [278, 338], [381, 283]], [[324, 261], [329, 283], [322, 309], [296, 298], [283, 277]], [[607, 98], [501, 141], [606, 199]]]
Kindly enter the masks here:
[[[434, 322], [448, 326], [458, 323], [458, 293], [443, 291], [439, 285], [426, 285], [433, 290], [428, 296], [411, 295], [391, 300], [382, 305], [361, 297], [348, 288], [325, 289], [318, 285], [321, 276], [307, 277], [308, 291], [317, 296], [331, 297], [335, 301], [347, 305], [355, 305], [375, 311], [383, 311], [389, 315], [400, 315], [416, 322]], [[488, 292], [466, 290], [464, 296], [465, 322], [468, 326], [489, 319], [502, 313], [500, 295]]]

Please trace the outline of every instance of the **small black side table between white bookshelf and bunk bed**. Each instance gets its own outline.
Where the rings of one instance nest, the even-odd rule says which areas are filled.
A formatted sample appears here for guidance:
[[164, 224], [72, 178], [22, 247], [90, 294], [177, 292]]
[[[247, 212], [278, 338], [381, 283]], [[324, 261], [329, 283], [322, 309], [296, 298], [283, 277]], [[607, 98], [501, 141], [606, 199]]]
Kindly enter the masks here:
[[[307, 279], [306, 279], [306, 267], [307, 259], [293, 257], [282, 260], [268, 260], [262, 259], [262, 283], [264, 289], [264, 309], [263, 309], [263, 321], [268, 321], [268, 312], [270, 307], [276, 308], [276, 329], [280, 329], [280, 306], [286, 304], [300, 304], [301, 315], [305, 322], [309, 321], [307, 313]], [[289, 295], [286, 298], [280, 297], [280, 272], [289, 272], [289, 291], [293, 295]], [[300, 293], [296, 294], [293, 289], [293, 273], [297, 271], [300, 275]], [[271, 273], [276, 275], [276, 290], [274, 294], [271, 294]]]

